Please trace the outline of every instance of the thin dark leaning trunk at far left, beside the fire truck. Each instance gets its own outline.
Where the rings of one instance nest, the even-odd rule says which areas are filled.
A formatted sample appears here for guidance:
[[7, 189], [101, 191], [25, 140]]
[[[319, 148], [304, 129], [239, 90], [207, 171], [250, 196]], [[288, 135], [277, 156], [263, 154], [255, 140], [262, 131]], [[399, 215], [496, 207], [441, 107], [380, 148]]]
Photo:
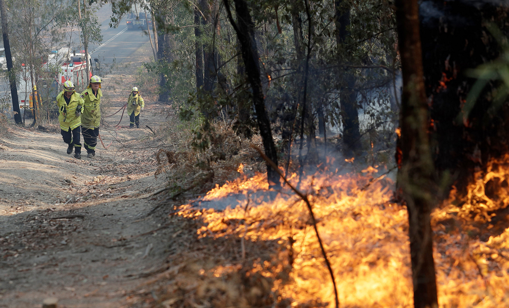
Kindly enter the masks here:
[[20, 101], [17, 97], [16, 74], [12, 71], [12, 54], [9, 44], [9, 31], [7, 25], [7, 14], [5, 12], [5, 0], [0, 0], [0, 17], [2, 18], [2, 37], [4, 39], [5, 59], [7, 60], [7, 74], [9, 75], [9, 85], [11, 89], [12, 111], [14, 111], [14, 121], [16, 124], [22, 124]]

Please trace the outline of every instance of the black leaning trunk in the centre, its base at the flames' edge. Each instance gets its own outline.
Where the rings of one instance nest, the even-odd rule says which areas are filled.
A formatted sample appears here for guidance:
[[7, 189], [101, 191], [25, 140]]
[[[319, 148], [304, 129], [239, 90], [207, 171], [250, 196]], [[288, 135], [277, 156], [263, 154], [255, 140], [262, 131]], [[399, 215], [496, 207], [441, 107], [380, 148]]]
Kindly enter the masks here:
[[[228, 19], [237, 32], [240, 48], [242, 52], [242, 60], [246, 69], [247, 80], [252, 89], [253, 105], [255, 106], [256, 120], [260, 136], [262, 137], [265, 155], [276, 165], [278, 165], [278, 153], [274, 139], [272, 139], [272, 131], [270, 129], [270, 121], [265, 111], [264, 95], [262, 83], [260, 79], [260, 64], [258, 62], [258, 49], [255, 41], [255, 24], [251, 20], [249, 7], [244, 0], [234, 0], [235, 12], [237, 13], [237, 23], [233, 20], [228, 0], [223, 0], [228, 14]], [[279, 188], [280, 181], [278, 172], [267, 163], [267, 180], [269, 187]]]

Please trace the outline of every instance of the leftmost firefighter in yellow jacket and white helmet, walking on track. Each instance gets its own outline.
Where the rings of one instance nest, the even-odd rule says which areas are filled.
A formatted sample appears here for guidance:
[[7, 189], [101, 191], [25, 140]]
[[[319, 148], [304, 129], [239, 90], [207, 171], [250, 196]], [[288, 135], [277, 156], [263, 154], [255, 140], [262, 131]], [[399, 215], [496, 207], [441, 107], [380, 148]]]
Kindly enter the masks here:
[[81, 159], [80, 125], [83, 100], [76, 93], [72, 81], [64, 82], [64, 90], [57, 96], [57, 106], [60, 113], [58, 115], [60, 133], [64, 142], [68, 144], [67, 154], [72, 153], [74, 148], [74, 157]]

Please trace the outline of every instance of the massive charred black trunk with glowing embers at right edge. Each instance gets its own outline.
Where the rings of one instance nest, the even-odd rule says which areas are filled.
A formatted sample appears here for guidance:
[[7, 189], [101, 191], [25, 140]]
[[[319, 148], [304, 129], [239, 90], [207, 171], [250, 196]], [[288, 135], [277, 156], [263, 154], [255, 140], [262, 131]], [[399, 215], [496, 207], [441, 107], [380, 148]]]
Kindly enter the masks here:
[[488, 83], [469, 114], [462, 114], [476, 82], [464, 72], [500, 55], [501, 46], [486, 29], [486, 21], [506, 35], [509, 9], [498, 2], [482, 6], [463, 1], [427, 3], [443, 12], [440, 16], [426, 9], [420, 12], [425, 88], [433, 120], [432, 153], [435, 168], [452, 175], [451, 184], [461, 199], [476, 170], [485, 169], [490, 159], [509, 152], [507, 100], [494, 108], [498, 82]]

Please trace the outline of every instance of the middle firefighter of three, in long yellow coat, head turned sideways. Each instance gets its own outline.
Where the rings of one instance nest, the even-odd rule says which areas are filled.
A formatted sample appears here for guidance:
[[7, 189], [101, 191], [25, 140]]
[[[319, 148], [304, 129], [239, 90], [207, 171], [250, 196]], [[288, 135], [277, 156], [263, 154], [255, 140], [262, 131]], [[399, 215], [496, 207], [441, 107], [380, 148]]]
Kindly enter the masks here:
[[81, 127], [83, 145], [87, 151], [87, 158], [96, 156], [97, 137], [99, 136], [99, 124], [101, 122], [101, 78], [90, 77], [90, 82], [80, 97], [84, 101], [83, 114], [81, 115]]

